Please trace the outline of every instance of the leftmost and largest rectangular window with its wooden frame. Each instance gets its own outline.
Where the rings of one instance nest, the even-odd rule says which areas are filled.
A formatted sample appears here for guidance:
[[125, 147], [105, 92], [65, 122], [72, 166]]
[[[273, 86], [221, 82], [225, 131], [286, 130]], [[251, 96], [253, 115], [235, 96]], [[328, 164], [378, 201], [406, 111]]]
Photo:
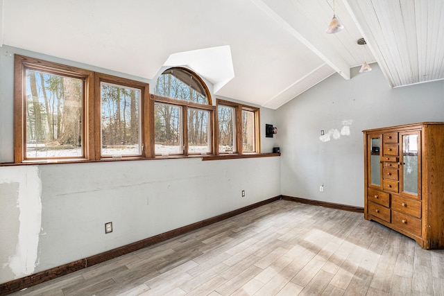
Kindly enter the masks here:
[[15, 162], [88, 159], [93, 72], [16, 55]]

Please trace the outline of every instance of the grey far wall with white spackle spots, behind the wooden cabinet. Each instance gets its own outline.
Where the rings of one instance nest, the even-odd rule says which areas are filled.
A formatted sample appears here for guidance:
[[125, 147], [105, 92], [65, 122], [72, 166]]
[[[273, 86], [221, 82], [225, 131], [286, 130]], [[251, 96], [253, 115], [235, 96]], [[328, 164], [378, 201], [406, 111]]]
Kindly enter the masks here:
[[[377, 64], [371, 67], [352, 69], [350, 80], [334, 74], [276, 111], [282, 195], [364, 207], [361, 131], [444, 121], [444, 81], [391, 89]], [[330, 141], [329, 130], [336, 130]]]

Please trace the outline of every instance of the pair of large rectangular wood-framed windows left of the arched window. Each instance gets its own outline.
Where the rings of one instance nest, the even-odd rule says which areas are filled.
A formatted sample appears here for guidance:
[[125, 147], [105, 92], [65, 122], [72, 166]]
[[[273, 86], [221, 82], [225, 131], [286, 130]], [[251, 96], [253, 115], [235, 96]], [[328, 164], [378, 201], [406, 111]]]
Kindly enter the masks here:
[[151, 157], [148, 84], [15, 56], [15, 162]]

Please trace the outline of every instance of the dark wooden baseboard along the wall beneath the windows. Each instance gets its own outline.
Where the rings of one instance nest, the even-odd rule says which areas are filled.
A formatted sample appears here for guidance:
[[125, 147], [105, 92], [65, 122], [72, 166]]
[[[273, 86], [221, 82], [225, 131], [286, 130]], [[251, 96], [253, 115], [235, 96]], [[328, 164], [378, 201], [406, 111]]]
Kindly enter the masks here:
[[186, 234], [187, 232], [191, 232], [193, 230], [205, 227], [207, 225], [211, 225], [213, 223], [231, 218], [233, 216], [237, 216], [246, 211], [250, 211], [257, 207], [261, 207], [264, 204], [268, 204], [270, 202], [274, 202], [276, 200], [280, 200], [281, 195], [275, 196], [274, 198], [269, 198], [268, 200], [263, 200], [262, 202], [256, 202], [255, 204], [250, 204], [249, 206], [243, 207], [241, 209], [236, 209], [234, 211], [230, 211], [225, 214], [221, 214], [219, 216], [215, 216], [213, 218], [208, 218], [206, 220], [202, 220], [190, 225], [186, 225], [184, 227], [180, 227], [178, 229], [173, 229], [169, 232], [164, 232], [163, 234], [157, 234], [156, 236], [151, 236], [149, 238], [145, 238], [142, 241], [136, 241], [135, 243], [130, 243], [129, 245], [123, 245], [122, 247], [117, 247], [116, 249], [109, 250], [103, 252], [101, 254], [96, 254], [93, 256], [89, 256], [85, 259], [80, 259], [78, 261], [74, 261], [71, 263], [67, 263], [65, 265], [58, 266], [56, 268], [51, 268], [49, 270], [44, 270], [42, 272], [37, 272], [34, 275], [28, 275], [27, 277], [22, 277], [20, 279], [15, 279], [12, 281], [8, 281], [6, 283], [0, 284], [0, 295], [8, 295], [13, 292], [17, 292], [24, 288], [28, 288], [31, 286], [35, 286], [37, 284], [41, 284], [44, 281], [49, 281], [50, 279], [56, 279], [57, 277], [61, 277], [62, 275], [68, 275], [71, 272], [75, 272], [77, 270], [81, 270], [83, 268], [87, 268], [89, 266], [108, 261], [110, 259], [116, 258], [123, 254], [128, 254], [130, 252], [134, 252], [136, 250], [142, 249], [144, 247], [148, 247], [150, 245], [154, 245], [155, 243], [160, 243], [162, 241], [167, 241], [170, 238], [174, 238], [176, 236], [180, 236], [182, 234]]

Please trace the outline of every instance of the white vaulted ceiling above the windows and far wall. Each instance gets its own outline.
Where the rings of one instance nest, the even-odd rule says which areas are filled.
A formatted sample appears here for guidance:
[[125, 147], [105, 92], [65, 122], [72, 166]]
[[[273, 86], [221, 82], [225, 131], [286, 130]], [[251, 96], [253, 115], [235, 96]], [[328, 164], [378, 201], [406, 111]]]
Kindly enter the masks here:
[[333, 0], [1, 1], [0, 44], [146, 79], [187, 66], [273, 109], [364, 60], [392, 87], [444, 78], [443, 0], [336, 0], [332, 35]]

